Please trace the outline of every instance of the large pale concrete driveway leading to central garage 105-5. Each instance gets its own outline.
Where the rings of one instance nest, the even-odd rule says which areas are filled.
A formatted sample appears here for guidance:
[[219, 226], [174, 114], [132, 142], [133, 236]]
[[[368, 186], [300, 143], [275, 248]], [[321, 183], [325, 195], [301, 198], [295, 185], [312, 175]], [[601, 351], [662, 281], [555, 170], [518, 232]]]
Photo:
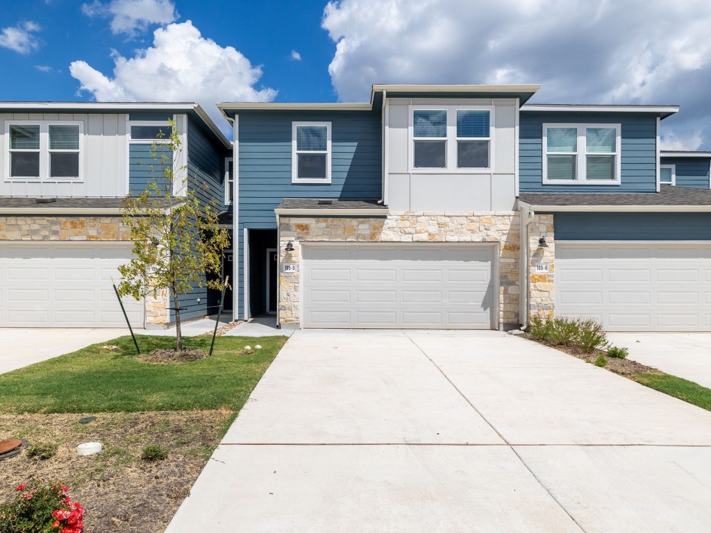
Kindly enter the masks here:
[[711, 413], [495, 331], [297, 331], [166, 533], [704, 532]]

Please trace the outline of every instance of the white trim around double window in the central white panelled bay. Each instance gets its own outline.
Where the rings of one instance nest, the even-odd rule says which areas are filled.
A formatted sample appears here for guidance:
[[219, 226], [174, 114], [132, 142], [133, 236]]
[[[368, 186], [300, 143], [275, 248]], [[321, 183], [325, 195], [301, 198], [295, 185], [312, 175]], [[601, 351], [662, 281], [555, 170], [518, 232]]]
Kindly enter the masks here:
[[[415, 166], [415, 111], [447, 111], [447, 136], [446, 137], [417, 137], [417, 141], [445, 141], [445, 158], [447, 166], [444, 168], [422, 168]], [[456, 135], [457, 111], [488, 111], [489, 136], [488, 137], [458, 137]], [[492, 174], [495, 170], [494, 161], [496, 146], [496, 106], [486, 104], [410, 104], [407, 109], [407, 137], [408, 137], [408, 171], [412, 174]], [[488, 141], [489, 166], [477, 168], [460, 168], [457, 161], [457, 141]]]

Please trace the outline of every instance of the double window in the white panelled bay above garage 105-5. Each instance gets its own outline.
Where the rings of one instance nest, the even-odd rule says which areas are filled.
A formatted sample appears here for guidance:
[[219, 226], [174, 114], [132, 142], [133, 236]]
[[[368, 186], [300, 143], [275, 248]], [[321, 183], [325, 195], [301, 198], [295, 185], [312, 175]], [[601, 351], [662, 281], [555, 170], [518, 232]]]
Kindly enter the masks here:
[[412, 169], [491, 171], [490, 107], [412, 107]]

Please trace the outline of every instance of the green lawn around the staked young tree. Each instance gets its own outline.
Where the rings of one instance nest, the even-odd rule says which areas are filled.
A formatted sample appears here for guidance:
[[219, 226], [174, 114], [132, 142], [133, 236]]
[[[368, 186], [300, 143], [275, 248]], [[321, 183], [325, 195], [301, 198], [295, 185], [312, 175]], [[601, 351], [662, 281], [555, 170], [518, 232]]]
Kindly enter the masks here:
[[[139, 336], [141, 352], [173, 348], [170, 337]], [[210, 336], [184, 338], [186, 348], [210, 349]], [[182, 365], [136, 358], [130, 337], [0, 375], [2, 413], [109, 411], [239, 411], [286, 342], [285, 337], [218, 337], [212, 357]], [[245, 345], [262, 345], [242, 354]], [[117, 345], [106, 350], [104, 345]]]

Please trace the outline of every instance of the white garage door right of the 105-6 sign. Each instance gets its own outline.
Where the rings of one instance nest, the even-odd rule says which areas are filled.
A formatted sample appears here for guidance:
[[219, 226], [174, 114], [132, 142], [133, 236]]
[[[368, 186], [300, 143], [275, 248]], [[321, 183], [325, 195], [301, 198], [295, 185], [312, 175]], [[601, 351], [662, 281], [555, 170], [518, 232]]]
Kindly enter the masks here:
[[557, 243], [555, 313], [609, 331], [711, 331], [711, 244]]

